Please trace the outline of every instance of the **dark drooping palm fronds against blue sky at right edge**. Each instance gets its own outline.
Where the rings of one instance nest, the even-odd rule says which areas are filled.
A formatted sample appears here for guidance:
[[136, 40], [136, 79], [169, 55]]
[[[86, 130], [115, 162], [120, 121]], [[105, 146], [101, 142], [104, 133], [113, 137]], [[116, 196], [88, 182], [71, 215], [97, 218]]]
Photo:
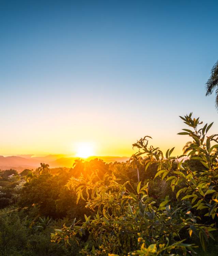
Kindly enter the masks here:
[[218, 61], [215, 63], [213, 68], [211, 69], [210, 78], [206, 82], [206, 96], [213, 93], [216, 89], [216, 108], [218, 110]]

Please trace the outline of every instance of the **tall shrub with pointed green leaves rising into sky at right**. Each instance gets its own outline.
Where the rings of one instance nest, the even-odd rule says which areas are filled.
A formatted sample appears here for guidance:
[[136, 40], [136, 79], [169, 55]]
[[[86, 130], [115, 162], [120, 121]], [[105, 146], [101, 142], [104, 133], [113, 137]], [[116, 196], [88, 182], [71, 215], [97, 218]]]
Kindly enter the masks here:
[[[192, 113], [185, 117], [180, 117], [185, 124], [191, 129], [183, 129], [184, 132], [180, 132], [180, 135], [188, 135], [192, 137], [193, 143], [189, 144], [190, 152], [188, 156], [196, 153], [197, 156], [192, 157], [192, 160], [198, 160], [204, 166], [201, 171], [190, 170], [180, 157], [171, 157], [173, 149], [166, 152], [165, 158], [159, 148], [152, 149], [147, 148], [147, 142], [145, 144], [137, 143], [135, 146], [139, 148], [141, 155], [141, 149], [143, 153], [150, 156], [150, 160], [147, 161], [147, 165], [153, 161], [159, 163], [158, 172], [156, 177], [161, 177], [162, 180], [170, 181], [172, 191], [175, 188], [179, 188], [176, 193], [178, 200], [186, 200], [191, 204], [191, 208], [188, 211], [190, 218], [193, 215], [197, 215], [198, 224], [190, 225], [189, 234], [192, 233], [200, 238], [202, 247], [206, 250], [206, 242], [208, 238], [213, 239], [211, 231], [216, 230], [215, 218], [217, 218], [217, 205], [218, 205], [218, 161], [217, 153], [214, 149], [218, 148], [217, 134], [207, 136], [207, 132], [213, 123], [205, 124], [202, 128], [198, 128], [198, 125], [202, 124], [199, 118], [192, 119]], [[212, 146], [212, 143], [214, 144]], [[161, 156], [157, 158], [156, 156]], [[155, 156], [155, 158], [154, 158]], [[177, 170], [172, 169], [172, 164], [176, 162]], [[146, 166], [147, 166], [146, 165]], [[207, 225], [201, 226], [206, 223]]]

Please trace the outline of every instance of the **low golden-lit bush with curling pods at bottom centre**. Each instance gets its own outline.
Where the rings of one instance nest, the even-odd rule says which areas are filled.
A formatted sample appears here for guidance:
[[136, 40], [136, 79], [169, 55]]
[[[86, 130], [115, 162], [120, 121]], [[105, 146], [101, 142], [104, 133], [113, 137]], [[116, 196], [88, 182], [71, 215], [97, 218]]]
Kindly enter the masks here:
[[[77, 235], [88, 235], [90, 241], [82, 250], [84, 255], [92, 255], [94, 251], [96, 255], [146, 255], [139, 254], [139, 250], [132, 251], [137, 247], [141, 248], [141, 253], [157, 248], [156, 254], [152, 255], [172, 250], [186, 253], [186, 247], [192, 250], [179, 235], [181, 229], [195, 225], [194, 217], [190, 219], [186, 215], [186, 208], [174, 209], [168, 204], [169, 200], [156, 206], [147, 195], [147, 184], [141, 186], [140, 182], [137, 192], [132, 193], [127, 189], [128, 181], [125, 184], [118, 181], [114, 175], [108, 177], [107, 174], [99, 179], [98, 173], [93, 173], [87, 180], [83, 176], [72, 178], [68, 187], [77, 191], [77, 202], [86, 197], [86, 207], [97, 213], [93, 218], [85, 215], [83, 223], [74, 220], [72, 226], [56, 230], [52, 241], [64, 240], [68, 244], [69, 238], [77, 240]], [[183, 220], [180, 220], [181, 216]], [[150, 247], [146, 248], [142, 241]]]

